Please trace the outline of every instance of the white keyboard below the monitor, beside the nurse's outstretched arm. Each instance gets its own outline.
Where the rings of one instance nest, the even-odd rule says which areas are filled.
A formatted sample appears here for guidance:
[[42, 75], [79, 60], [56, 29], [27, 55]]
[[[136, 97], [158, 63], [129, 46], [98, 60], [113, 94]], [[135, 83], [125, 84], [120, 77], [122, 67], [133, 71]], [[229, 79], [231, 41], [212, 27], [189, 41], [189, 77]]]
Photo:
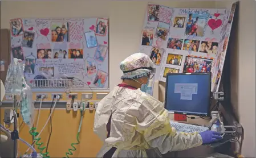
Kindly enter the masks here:
[[193, 132], [204, 132], [209, 130], [208, 127], [204, 126], [196, 126], [193, 124], [185, 124], [179, 122], [170, 121], [170, 126], [176, 129], [176, 132], [186, 132], [186, 133], [193, 133]]

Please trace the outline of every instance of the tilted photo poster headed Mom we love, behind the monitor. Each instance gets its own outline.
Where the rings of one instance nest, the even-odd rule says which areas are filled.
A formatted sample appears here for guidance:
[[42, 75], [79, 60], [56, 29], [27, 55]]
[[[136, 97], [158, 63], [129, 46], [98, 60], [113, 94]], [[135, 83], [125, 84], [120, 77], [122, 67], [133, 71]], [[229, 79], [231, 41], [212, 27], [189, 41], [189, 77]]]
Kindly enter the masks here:
[[165, 82], [167, 73], [212, 72], [212, 92], [217, 92], [235, 5], [188, 9], [148, 3], [140, 52], [155, 64], [156, 80]]

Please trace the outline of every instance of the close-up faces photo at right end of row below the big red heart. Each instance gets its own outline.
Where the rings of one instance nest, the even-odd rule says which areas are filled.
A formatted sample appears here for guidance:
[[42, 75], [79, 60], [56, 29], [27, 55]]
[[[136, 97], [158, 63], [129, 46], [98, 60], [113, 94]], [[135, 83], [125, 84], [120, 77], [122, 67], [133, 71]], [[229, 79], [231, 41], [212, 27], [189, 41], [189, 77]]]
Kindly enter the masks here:
[[218, 43], [212, 41], [201, 41], [200, 51], [202, 53], [213, 53], [217, 55]]

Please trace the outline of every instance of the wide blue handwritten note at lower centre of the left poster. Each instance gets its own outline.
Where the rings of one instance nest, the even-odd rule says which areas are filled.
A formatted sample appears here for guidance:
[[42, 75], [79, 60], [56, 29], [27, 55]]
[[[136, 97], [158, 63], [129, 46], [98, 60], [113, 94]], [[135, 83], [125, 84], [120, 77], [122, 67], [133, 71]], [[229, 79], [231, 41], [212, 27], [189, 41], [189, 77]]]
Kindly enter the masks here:
[[82, 73], [82, 70], [83, 64], [80, 63], [59, 64], [59, 74]]

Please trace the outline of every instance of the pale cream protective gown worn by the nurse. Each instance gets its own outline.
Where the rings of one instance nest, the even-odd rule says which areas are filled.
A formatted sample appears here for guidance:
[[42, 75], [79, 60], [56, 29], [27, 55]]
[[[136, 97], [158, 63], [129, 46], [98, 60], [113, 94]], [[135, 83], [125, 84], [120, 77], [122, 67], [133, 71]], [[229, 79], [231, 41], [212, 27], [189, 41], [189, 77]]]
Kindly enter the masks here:
[[[107, 123], [111, 132], [107, 138]], [[168, 111], [151, 95], [116, 86], [97, 106], [94, 132], [104, 142], [96, 157], [112, 147], [112, 157], [162, 157], [168, 151], [181, 151], [202, 144], [198, 133], [176, 133], [170, 126]]]

